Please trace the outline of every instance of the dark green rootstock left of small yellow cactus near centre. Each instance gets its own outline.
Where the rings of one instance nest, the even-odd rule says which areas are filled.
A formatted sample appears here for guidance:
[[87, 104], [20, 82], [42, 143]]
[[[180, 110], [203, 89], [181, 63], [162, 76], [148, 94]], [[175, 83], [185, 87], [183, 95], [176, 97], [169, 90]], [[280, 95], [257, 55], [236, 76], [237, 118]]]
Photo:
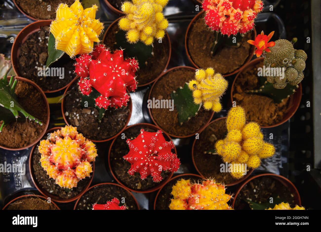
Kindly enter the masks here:
[[182, 125], [196, 116], [201, 108], [201, 104], [195, 104], [193, 92], [185, 83], [184, 87], [179, 87], [176, 91], [171, 92], [170, 97], [174, 100], [174, 105], [178, 111], [178, 123]]

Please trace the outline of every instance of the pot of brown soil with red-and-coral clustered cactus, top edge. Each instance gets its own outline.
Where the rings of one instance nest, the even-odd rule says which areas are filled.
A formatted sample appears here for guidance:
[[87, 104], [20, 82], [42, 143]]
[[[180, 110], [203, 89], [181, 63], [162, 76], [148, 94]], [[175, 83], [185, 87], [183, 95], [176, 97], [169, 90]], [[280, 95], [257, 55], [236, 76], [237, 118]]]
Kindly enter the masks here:
[[254, 20], [263, 3], [204, 0], [202, 8], [187, 28], [187, 57], [196, 68], [213, 67], [230, 76], [252, 58], [254, 49], [246, 41], [256, 37]]

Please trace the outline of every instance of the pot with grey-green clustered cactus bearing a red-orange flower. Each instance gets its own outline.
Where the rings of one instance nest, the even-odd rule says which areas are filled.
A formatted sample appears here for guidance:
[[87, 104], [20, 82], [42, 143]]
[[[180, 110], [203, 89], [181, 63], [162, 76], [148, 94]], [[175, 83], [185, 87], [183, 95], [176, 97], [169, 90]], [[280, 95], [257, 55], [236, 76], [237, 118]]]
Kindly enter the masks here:
[[[262, 31], [248, 42], [256, 46], [256, 56], [234, 79], [231, 98], [247, 111], [249, 120], [264, 127], [277, 126], [289, 120], [299, 107], [301, 99], [300, 82], [304, 78], [303, 70], [307, 54], [296, 50], [297, 41], [279, 39], [268, 42], [273, 36]], [[262, 110], [267, 112], [262, 114]], [[266, 110], [268, 109], [268, 110]]]

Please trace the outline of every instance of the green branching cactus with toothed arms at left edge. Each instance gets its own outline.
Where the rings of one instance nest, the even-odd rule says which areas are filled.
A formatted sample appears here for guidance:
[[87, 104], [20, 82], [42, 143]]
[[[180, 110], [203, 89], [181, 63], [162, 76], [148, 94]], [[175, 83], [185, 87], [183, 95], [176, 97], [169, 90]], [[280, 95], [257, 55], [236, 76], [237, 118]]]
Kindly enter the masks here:
[[0, 121], [2, 121], [0, 132], [2, 132], [2, 129], [6, 124], [19, 117], [19, 112], [22, 113], [26, 119], [29, 119], [30, 121], [34, 120], [42, 126], [42, 122], [26, 112], [18, 103], [17, 96], [14, 93], [17, 79], [14, 79], [14, 77], [11, 76], [8, 83], [7, 75], [8, 73], [0, 79], [0, 106], [2, 106], [0, 107]]

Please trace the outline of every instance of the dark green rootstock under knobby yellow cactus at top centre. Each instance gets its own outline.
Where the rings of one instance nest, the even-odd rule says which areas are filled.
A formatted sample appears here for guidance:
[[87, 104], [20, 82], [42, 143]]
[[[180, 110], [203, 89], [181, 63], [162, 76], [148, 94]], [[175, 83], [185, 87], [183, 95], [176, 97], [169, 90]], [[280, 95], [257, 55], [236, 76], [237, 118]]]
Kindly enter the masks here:
[[129, 57], [135, 57], [139, 63], [140, 67], [146, 66], [146, 61], [148, 58], [152, 57], [153, 46], [145, 45], [141, 41], [135, 44], [130, 44], [126, 39], [126, 31], [119, 30], [116, 34], [116, 44], [115, 48], [126, 49], [125, 52]]

